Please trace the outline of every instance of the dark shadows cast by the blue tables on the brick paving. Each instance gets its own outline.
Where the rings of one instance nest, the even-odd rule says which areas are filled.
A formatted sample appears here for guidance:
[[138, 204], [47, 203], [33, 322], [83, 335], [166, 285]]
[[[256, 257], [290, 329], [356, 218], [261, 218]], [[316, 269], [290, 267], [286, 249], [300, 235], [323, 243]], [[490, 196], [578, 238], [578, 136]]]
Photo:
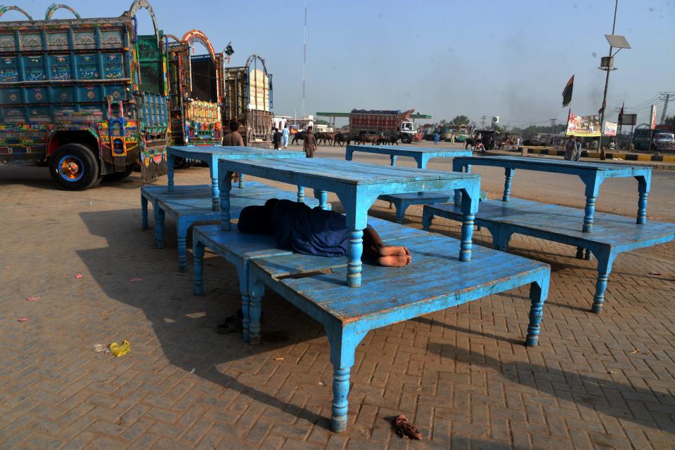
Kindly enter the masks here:
[[[107, 245], [99, 249], [78, 250], [78, 255], [107, 296], [143, 312], [152, 324], [162, 352], [171, 364], [186, 372], [195, 369], [195, 374], [201, 378], [262, 402], [280, 413], [302, 418], [322, 428], [330, 428], [330, 401], [323, 413], [319, 414], [290, 402], [293, 393], [282, 395], [277, 392], [273, 395], [244, 383], [242, 379], [245, 376], [235, 378], [229, 374], [240, 375], [264, 370], [264, 362], [270, 358], [251, 357], [267, 354], [274, 359], [275, 351], [281, 352], [283, 348], [324, 336], [319, 324], [299, 310], [288, 307], [288, 303], [278, 296], [268, 294], [264, 298], [264, 314], [269, 323], [263, 324], [262, 344], [245, 345], [238, 334], [219, 335], [214, 332], [215, 324], [224, 317], [235, 314], [240, 307], [238, 278], [230, 265], [221, 258], [207, 258], [205, 296], [196, 298], [192, 294], [191, 267], [185, 274], [176, 272], [176, 249], [172, 244], [175, 236], [170, 231], [172, 226], [167, 227], [167, 248], [155, 249], [153, 230], [141, 230], [139, 210], [80, 213], [80, 216], [89, 232], [105, 238]], [[113, 227], [110, 226], [111, 223], [125, 225]], [[124, 284], [126, 280], [120, 278], [120, 274], [143, 277], [144, 286]], [[417, 320], [425, 323], [430, 319], [421, 317]], [[458, 333], [480, 334], [515, 343], [511, 338], [494, 336], [493, 333], [483, 335], [458, 326], [443, 326]], [[522, 340], [518, 340], [520, 342]], [[445, 343], [432, 342], [427, 350], [454, 359], [462, 359], [467, 355], [472, 361], [477, 358], [469, 350]], [[631, 411], [629, 404], [622, 398], [622, 393], [651, 399], [645, 401], [653, 401], [655, 404], [673, 402], [668, 393], [622, 385], [595, 376], [579, 375], [572, 371], [528, 362], [502, 364], [487, 355], [480, 355], [479, 359], [501, 373], [506, 380], [560, 399], [570, 400], [571, 395], [572, 401], [579, 406], [596, 409], [608, 416], [650, 428], [663, 429], [651, 416], [638, 415]], [[352, 420], [353, 416], [350, 414], [350, 422]], [[675, 429], [667, 428], [666, 431], [675, 432]], [[472, 439], [472, 442], [475, 448], [481, 448], [480, 439]], [[494, 442], [483, 443], [494, 446]]]

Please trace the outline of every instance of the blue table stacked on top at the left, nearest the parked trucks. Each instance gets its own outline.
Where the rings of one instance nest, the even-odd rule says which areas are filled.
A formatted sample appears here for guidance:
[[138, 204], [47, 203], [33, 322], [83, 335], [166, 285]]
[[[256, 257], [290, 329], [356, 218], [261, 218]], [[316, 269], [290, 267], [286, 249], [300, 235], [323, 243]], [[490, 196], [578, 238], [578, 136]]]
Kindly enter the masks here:
[[[257, 147], [227, 147], [222, 145], [171, 145], [167, 149], [168, 190], [174, 190], [174, 164], [176, 157], [196, 159], [209, 166], [211, 174], [212, 209], [219, 211], [218, 159], [255, 159], [255, 158], [304, 158], [304, 152], [293, 150], [273, 150]], [[239, 187], [244, 187], [244, 178], [240, 174]]]

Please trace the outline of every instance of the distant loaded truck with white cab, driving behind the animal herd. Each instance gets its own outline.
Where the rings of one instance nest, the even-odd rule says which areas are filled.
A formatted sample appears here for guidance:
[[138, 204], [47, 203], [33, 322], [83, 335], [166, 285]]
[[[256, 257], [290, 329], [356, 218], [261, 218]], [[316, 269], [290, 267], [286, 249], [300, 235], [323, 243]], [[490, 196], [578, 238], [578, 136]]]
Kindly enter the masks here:
[[412, 143], [418, 133], [410, 117], [415, 110], [352, 110], [349, 114], [349, 132], [400, 134], [401, 142]]

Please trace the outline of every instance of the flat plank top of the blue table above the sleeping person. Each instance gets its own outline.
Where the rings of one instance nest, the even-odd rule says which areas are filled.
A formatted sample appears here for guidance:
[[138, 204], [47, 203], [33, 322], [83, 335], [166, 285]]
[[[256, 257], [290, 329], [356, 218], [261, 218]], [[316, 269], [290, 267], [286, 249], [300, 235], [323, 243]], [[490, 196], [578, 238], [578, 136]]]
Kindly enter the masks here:
[[480, 180], [473, 173], [432, 171], [420, 168], [401, 168], [366, 164], [341, 159], [238, 159], [221, 161], [232, 171], [277, 181], [295, 180], [297, 177], [314, 178], [345, 185], [377, 185], [409, 183], [425, 180]]

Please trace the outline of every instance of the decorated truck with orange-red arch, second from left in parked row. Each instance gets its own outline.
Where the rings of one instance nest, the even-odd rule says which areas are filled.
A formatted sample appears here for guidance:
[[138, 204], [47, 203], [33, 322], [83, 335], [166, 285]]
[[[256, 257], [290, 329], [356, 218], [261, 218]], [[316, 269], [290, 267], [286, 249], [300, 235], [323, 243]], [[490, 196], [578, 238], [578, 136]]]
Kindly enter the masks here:
[[[195, 41], [209, 54], [190, 55]], [[170, 43], [168, 52], [170, 145], [221, 145], [221, 55], [198, 29]]]

